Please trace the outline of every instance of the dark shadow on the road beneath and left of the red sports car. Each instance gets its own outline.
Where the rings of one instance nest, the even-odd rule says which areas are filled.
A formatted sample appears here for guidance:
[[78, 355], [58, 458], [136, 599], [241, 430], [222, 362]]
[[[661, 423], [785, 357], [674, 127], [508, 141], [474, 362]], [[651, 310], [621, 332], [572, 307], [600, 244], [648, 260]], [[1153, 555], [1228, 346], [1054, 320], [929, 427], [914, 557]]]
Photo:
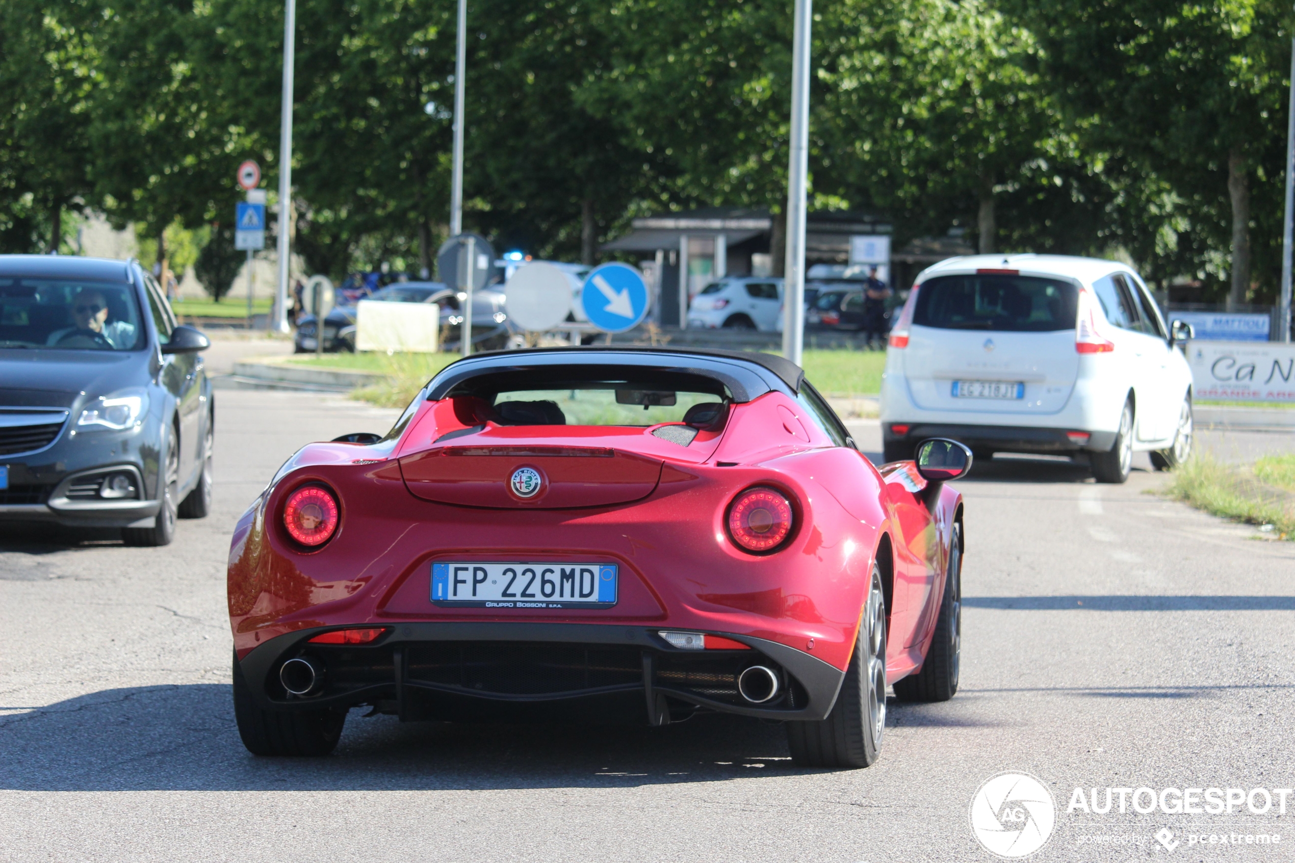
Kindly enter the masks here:
[[401, 725], [352, 710], [334, 754], [258, 758], [229, 701], [224, 684], [140, 687], [0, 717], [0, 789], [598, 788], [811, 772], [791, 766], [781, 726], [715, 714], [648, 728]]

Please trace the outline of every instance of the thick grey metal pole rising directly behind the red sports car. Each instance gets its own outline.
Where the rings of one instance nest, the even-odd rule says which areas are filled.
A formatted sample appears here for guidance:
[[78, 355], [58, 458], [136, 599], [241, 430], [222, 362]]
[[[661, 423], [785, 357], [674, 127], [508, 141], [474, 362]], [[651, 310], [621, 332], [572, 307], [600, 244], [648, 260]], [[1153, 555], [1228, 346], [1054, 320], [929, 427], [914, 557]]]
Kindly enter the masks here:
[[804, 352], [805, 182], [809, 171], [811, 0], [796, 0], [791, 36], [791, 158], [787, 164], [787, 256], [783, 264], [782, 356], [800, 365]]

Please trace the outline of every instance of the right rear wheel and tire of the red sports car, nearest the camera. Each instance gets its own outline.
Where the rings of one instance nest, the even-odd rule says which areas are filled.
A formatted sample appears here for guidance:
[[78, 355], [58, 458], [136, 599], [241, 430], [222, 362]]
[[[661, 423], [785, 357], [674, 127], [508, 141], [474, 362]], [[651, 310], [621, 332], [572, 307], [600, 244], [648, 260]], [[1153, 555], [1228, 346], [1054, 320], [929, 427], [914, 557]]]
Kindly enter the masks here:
[[826, 719], [787, 722], [787, 748], [798, 767], [869, 767], [886, 730], [886, 599], [873, 563], [855, 653]]

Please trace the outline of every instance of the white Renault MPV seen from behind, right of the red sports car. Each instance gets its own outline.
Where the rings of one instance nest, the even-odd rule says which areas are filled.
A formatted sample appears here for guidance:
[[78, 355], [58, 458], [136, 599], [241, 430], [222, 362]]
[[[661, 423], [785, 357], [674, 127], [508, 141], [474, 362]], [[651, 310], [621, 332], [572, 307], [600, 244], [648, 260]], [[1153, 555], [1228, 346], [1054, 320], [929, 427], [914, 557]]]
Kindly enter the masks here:
[[1134, 450], [1158, 468], [1191, 452], [1191, 371], [1164, 317], [1118, 261], [978, 255], [917, 277], [882, 378], [886, 461], [927, 437], [996, 452], [1087, 455], [1101, 483]]

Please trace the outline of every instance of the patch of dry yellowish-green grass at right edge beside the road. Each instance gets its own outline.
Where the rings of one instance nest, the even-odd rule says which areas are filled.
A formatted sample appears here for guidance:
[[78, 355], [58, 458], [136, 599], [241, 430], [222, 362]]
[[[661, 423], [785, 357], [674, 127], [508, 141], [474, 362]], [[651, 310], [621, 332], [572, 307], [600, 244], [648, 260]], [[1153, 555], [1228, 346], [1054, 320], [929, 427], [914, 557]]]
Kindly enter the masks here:
[[1233, 521], [1270, 524], [1282, 540], [1295, 538], [1295, 455], [1265, 457], [1247, 468], [1198, 453], [1173, 471], [1166, 493]]

